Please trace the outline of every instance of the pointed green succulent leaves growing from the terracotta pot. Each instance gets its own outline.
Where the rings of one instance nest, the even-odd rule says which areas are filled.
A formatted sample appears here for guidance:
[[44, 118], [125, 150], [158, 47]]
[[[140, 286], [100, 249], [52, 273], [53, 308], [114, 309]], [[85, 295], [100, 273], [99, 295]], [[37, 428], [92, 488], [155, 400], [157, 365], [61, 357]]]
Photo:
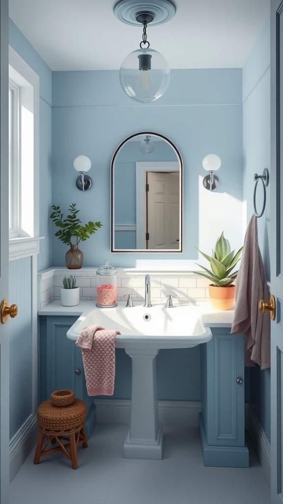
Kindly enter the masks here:
[[231, 251], [230, 243], [224, 237], [224, 232], [222, 232], [221, 236], [217, 239], [212, 256], [207, 256], [197, 247], [195, 248], [203, 257], [205, 257], [205, 259], [207, 259], [210, 264], [211, 271], [199, 264], [198, 266], [200, 266], [200, 268], [202, 268], [206, 273], [202, 273], [200, 271], [194, 271], [193, 273], [208, 278], [213, 285], [218, 287], [228, 287], [234, 282], [237, 278], [238, 271], [234, 271], [233, 273], [233, 269], [240, 260], [243, 247], [241, 247], [237, 254], [235, 254], [235, 250]]

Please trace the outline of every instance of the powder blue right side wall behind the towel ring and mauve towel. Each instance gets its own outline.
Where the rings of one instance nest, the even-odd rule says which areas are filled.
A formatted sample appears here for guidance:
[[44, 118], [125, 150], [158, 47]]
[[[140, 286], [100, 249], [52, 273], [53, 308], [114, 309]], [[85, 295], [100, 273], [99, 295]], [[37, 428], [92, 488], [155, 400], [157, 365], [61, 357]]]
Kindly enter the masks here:
[[[270, 173], [270, 29], [263, 28], [243, 67], [243, 196], [247, 206], [247, 224], [254, 213], [254, 173]], [[261, 183], [258, 184], [257, 208], [262, 208]], [[270, 184], [266, 188], [266, 209], [257, 220], [258, 241], [267, 280], [270, 280], [269, 260]], [[270, 441], [270, 369], [250, 369], [250, 404]]]

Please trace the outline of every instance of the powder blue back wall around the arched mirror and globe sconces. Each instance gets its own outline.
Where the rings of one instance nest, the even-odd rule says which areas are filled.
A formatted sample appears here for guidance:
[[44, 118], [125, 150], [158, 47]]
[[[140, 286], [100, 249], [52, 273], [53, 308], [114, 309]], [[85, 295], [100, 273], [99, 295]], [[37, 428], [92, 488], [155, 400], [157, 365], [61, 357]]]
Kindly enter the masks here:
[[[170, 139], [184, 164], [184, 253], [113, 254], [110, 250], [110, 165], [126, 137], [151, 131]], [[222, 159], [221, 184], [214, 195], [200, 189], [206, 174], [202, 159], [216, 153]], [[73, 161], [84, 154], [93, 163], [94, 186], [78, 191]], [[234, 176], [235, 172], [238, 174]], [[201, 176], [201, 178], [200, 178]], [[230, 181], [234, 177], [233, 185]], [[202, 184], [201, 184], [202, 185]], [[205, 194], [204, 194], [205, 193]], [[213, 202], [209, 197], [213, 196]], [[234, 206], [234, 201], [239, 206]], [[227, 212], [228, 201], [228, 212]], [[173, 70], [166, 94], [148, 105], [136, 104], [121, 90], [118, 71], [52, 73], [52, 204], [65, 214], [77, 203], [84, 222], [101, 221], [103, 228], [82, 244], [85, 266], [134, 267], [136, 260], [197, 258], [199, 235], [208, 250], [223, 229], [242, 245], [242, 71]], [[209, 202], [204, 216], [204, 207]], [[200, 208], [202, 210], [200, 211]], [[240, 209], [238, 211], [238, 209]], [[240, 213], [240, 215], [239, 215]], [[213, 230], [213, 241], [209, 233]], [[55, 231], [54, 227], [52, 230]], [[66, 246], [52, 239], [52, 264], [64, 265]]]

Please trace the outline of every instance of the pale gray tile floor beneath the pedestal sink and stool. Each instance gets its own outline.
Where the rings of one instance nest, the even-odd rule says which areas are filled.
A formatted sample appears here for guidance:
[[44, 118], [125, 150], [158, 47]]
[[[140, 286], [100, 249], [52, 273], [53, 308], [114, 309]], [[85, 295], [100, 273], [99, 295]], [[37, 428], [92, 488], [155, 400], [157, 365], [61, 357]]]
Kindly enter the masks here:
[[123, 459], [127, 426], [97, 424], [74, 470], [60, 453], [33, 464], [10, 485], [10, 504], [270, 504], [270, 489], [251, 447], [248, 469], [204, 467], [198, 429], [163, 427], [163, 460]]

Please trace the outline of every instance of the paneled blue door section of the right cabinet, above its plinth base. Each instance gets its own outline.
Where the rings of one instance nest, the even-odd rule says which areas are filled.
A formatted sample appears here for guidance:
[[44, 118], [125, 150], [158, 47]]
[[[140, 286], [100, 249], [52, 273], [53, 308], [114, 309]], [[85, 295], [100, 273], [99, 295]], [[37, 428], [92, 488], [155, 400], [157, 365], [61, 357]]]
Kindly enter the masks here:
[[245, 446], [244, 338], [231, 336], [226, 328], [211, 332], [202, 365], [201, 409], [207, 444]]

